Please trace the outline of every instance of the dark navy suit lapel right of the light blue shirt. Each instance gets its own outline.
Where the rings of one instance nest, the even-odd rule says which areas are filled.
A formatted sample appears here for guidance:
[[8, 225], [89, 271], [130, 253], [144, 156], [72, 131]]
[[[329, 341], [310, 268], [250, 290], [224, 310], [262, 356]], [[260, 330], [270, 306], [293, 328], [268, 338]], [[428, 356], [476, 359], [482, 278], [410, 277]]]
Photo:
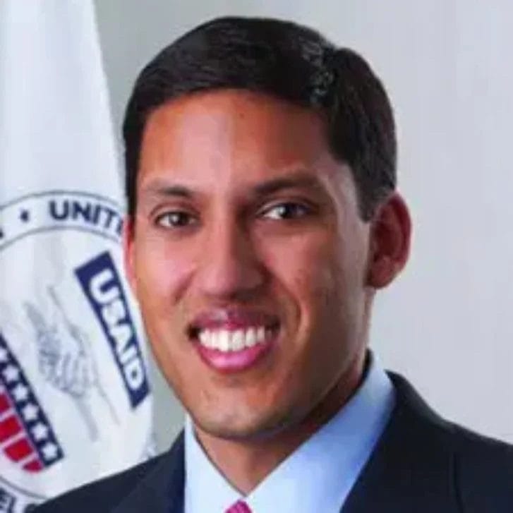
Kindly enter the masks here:
[[398, 375], [396, 406], [341, 513], [458, 511], [450, 427]]

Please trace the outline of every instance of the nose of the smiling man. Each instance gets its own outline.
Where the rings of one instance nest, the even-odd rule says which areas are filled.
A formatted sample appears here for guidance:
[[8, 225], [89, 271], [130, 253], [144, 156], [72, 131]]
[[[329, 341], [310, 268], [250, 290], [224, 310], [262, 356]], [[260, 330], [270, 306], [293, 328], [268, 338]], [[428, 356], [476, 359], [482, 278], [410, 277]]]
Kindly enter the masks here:
[[217, 222], [207, 230], [200, 251], [198, 286], [211, 299], [247, 301], [265, 283], [265, 267], [251, 235], [234, 220]]

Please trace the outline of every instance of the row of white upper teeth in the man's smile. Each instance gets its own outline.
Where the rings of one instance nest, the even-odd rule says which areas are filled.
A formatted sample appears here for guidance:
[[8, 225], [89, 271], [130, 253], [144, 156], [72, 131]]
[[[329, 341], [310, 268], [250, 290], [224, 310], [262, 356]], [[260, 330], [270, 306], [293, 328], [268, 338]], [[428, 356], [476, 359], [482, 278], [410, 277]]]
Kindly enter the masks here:
[[262, 344], [272, 335], [265, 326], [249, 327], [247, 330], [200, 330], [200, 344], [218, 351], [240, 351], [245, 347]]

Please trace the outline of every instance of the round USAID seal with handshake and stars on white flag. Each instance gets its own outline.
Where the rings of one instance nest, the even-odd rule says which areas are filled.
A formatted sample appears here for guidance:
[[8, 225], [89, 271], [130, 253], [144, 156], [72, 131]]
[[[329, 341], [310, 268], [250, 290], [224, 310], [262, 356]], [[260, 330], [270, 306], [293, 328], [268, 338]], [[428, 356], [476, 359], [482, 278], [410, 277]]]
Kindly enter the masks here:
[[90, 193], [0, 206], [0, 511], [147, 457], [150, 387], [121, 230], [119, 205]]

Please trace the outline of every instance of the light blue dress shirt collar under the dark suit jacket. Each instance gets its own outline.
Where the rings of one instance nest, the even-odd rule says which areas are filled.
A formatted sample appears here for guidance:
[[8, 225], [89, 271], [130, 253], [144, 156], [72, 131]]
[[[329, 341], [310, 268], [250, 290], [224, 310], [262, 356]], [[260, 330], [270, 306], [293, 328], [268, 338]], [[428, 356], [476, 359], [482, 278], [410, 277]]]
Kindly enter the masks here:
[[394, 387], [371, 355], [366, 379], [349, 402], [247, 497], [212, 464], [187, 417], [185, 513], [224, 513], [239, 499], [253, 513], [339, 513], [394, 404]]

